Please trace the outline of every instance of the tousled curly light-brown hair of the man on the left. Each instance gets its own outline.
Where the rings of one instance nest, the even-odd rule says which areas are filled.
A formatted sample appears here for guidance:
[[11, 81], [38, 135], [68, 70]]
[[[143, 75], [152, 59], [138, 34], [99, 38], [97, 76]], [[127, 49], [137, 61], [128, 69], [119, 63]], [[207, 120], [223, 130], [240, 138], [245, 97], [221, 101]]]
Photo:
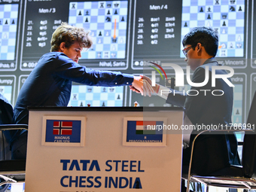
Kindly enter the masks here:
[[61, 25], [53, 32], [50, 40], [50, 52], [59, 51], [59, 45], [65, 42], [65, 47], [70, 47], [76, 41], [83, 48], [90, 48], [93, 44], [89, 36], [90, 31], [86, 31], [82, 27], [70, 26], [68, 23]]

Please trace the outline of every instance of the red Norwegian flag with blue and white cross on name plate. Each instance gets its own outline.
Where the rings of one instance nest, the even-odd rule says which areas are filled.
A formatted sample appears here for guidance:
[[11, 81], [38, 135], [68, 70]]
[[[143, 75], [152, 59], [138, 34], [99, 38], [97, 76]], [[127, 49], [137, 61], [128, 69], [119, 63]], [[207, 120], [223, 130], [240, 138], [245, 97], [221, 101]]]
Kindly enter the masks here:
[[72, 135], [72, 121], [53, 121], [53, 135]]

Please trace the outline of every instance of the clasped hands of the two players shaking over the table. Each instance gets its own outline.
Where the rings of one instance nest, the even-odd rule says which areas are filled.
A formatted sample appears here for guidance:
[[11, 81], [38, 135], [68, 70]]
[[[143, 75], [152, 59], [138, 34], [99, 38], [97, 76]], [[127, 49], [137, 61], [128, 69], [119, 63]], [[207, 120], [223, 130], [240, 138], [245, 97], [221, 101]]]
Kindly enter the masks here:
[[134, 76], [133, 84], [130, 85], [130, 90], [136, 93], [141, 93], [142, 96], [151, 96], [154, 93], [158, 93], [160, 85], [152, 87], [151, 79], [145, 75]]

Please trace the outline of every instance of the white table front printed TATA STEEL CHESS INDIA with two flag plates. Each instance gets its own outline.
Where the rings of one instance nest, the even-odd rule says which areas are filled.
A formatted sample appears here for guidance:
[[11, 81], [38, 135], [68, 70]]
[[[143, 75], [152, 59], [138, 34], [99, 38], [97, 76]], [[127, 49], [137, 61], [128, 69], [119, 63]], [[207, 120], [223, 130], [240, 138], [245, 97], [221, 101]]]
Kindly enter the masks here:
[[182, 119], [181, 108], [29, 108], [25, 191], [179, 192], [181, 130], [159, 130]]

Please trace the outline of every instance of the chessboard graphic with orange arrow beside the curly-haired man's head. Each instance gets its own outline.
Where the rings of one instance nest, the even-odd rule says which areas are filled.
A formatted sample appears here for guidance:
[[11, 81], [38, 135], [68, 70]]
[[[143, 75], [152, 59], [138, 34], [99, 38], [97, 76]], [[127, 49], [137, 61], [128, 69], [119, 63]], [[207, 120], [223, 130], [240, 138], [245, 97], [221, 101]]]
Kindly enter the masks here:
[[93, 46], [81, 59], [126, 57], [127, 1], [70, 2], [69, 24], [90, 30]]

